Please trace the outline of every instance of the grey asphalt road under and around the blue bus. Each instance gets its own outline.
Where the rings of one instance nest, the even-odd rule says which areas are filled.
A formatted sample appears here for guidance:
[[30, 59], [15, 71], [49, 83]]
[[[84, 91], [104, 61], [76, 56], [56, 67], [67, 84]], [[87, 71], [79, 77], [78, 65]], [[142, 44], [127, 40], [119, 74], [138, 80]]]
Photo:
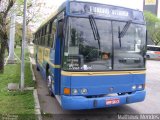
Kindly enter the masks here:
[[[103, 108], [95, 110], [66, 111], [63, 110], [58, 101], [48, 95], [48, 90], [41, 75], [35, 71], [37, 80], [38, 97], [40, 100], [41, 112], [44, 119], [55, 120], [106, 120], [118, 119], [136, 119], [139, 114], [160, 114], [160, 61], [147, 61], [146, 76], [146, 99], [140, 103], [133, 103], [112, 108]], [[130, 115], [130, 116], [129, 116]], [[119, 118], [120, 119], [120, 118]], [[159, 118], [160, 119], [160, 115]]]

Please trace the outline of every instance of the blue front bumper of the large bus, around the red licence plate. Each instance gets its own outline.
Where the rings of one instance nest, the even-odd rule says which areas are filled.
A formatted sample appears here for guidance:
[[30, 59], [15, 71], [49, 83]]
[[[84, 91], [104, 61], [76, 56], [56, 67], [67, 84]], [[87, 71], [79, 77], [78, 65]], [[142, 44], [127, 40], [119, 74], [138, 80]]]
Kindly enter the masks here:
[[[84, 96], [61, 96], [61, 105], [65, 110], [95, 109], [119, 106], [123, 104], [141, 102], [145, 99], [146, 91], [136, 91], [132, 94], [120, 96], [106, 96], [98, 98], [86, 98]], [[106, 101], [118, 99], [119, 103], [107, 104]]]

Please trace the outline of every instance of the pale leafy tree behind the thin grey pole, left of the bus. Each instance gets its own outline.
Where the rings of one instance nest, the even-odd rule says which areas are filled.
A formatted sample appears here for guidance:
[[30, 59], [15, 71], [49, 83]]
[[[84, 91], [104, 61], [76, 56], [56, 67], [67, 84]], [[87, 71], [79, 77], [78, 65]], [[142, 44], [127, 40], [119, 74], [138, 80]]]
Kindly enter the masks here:
[[[23, 17], [23, 4], [24, 0], [16, 0], [16, 13], [17, 17], [19, 18], [18, 21], [22, 20]], [[26, 16], [26, 26], [27, 26], [27, 42], [30, 43], [30, 40], [32, 38], [32, 31], [30, 28], [30, 25], [32, 23], [36, 23], [37, 21], [42, 21], [40, 18], [42, 16], [45, 16], [42, 12], [42, 8], [45, 6], [45, 2], [43, 0], [27, 0], [27, 16]], [[22, 29], [20, 26], [20, 23], [17, 24], [16, 28], [16, 40], [15, 44], [21, 43], [22, 38], [22, 32], [18, 32]]]

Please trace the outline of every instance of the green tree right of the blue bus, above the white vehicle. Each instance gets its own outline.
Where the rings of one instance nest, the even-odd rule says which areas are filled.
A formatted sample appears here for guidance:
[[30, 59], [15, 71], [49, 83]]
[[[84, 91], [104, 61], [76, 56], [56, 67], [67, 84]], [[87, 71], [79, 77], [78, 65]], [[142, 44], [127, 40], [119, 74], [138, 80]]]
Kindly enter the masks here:
[[151, 12], [144, 12], [145, 20], [147, 23], [148, 38], [152, 40], [155, 45], [160, 43], [160, 19]]

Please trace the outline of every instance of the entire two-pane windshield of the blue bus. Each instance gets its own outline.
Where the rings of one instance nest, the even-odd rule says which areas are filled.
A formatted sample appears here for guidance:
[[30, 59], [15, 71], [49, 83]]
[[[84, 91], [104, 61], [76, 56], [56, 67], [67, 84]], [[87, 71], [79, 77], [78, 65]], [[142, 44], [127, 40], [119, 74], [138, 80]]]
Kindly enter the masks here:
[[[63, 69], [109, 71], [144, 68], [145, 26], [133, 24], [119, 38], [126, 22], [70, 17], [66, 35]], [[100, 44], [100, 45], [99, 45]]]

